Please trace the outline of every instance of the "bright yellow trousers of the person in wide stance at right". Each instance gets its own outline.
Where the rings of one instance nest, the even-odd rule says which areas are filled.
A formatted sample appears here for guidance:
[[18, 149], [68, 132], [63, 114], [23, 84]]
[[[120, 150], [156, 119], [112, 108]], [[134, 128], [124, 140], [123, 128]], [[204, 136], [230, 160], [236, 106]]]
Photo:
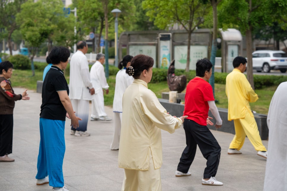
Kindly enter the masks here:
[[254, 115], [250, 109], [246, 108], [245, 118], [235, 119], [233, 121], [235, 128], [235, 136], [229, 145], [230, 149], [240, 150], [244, 144], [245, 137], [247, 135], [249, 141], [251, 142], [256, 151], [266, 151], [266, 148], [262, 144]]

